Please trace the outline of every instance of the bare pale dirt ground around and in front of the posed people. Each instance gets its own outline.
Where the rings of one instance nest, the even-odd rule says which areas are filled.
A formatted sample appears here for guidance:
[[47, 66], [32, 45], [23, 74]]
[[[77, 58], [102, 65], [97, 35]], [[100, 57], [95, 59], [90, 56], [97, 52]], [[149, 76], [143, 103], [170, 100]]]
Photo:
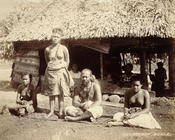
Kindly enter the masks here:
[[[0, 62], [0, 109], [14, 104], [15, 90], [10, 88], [11, 63]], [[45, 119], [48, 112], [48, 98], [38, 95], [40, 113], [19, 118], [8, 113], [0, 114], [0, 140], [173, 140], [175, 139], [175, 98], [152, 99], [152, 113], [160, 123], [161, 130], [134, 127], [105, 127], [111, 119], [114, 107], [104, 106], [104, 116], [92, 124], [88, 121], [65, 122], [54, 116]]]

